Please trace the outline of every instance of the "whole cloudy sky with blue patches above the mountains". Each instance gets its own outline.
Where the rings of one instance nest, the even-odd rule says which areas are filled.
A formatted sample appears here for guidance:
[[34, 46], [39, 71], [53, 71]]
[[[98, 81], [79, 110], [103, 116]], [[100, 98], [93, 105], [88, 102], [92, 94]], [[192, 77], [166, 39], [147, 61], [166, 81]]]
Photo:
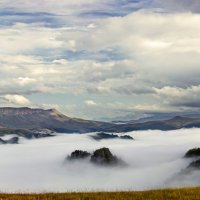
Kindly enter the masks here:
[[200, 111], [199, 0], [0, 0], [0, 18], [1, 106]]

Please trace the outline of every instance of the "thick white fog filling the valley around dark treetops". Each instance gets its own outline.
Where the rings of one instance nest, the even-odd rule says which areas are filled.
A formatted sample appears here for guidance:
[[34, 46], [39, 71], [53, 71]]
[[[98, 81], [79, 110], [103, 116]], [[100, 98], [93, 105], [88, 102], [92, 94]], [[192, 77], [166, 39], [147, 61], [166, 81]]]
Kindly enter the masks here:
[[[148, 190], [200, 185], [200, 173], [178, 178], [191, 162], [185, 152], [200, 147], [200, 129], [138, 131], [135, 141], [95, 141], [90, 134], [58, 134], [0, 146], [1, 192]], [[76, 149], [108, 147], [126, 167], [99, 167], [88, 161], [65, 161]]]

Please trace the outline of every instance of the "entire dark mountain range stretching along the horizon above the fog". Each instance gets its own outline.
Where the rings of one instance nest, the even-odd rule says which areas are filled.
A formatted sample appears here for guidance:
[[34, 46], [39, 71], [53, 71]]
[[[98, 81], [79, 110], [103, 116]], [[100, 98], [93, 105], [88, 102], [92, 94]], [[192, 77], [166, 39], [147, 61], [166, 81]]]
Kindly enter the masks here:
[[0, 108], [0, 129], [51, 130], [60, 133], [129, 132], [200, 127], [200, 118], [176, 116], [167, 120], [114, 124], [68, 117], [55, 109]]

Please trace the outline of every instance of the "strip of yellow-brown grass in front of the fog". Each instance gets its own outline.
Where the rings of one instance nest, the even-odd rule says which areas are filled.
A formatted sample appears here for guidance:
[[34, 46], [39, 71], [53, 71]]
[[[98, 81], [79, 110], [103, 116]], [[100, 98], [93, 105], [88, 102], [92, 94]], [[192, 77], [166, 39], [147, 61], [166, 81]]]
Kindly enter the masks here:
[[0, 194], [0, 200], [200, 200], [200, 188], [152, 190], [145, 192], [108, 193], [49, 193], [49, 194]]

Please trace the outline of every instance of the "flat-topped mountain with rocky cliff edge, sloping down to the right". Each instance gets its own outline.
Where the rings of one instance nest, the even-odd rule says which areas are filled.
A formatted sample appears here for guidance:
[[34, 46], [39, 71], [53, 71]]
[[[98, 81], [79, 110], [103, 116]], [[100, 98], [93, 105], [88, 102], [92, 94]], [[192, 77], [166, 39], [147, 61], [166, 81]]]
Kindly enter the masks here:
[[0, 108], [0, 126], [13, 129], [50, 129], [56, 132], [99, 131], [109, 123], [70, 118], [55, 109]]

